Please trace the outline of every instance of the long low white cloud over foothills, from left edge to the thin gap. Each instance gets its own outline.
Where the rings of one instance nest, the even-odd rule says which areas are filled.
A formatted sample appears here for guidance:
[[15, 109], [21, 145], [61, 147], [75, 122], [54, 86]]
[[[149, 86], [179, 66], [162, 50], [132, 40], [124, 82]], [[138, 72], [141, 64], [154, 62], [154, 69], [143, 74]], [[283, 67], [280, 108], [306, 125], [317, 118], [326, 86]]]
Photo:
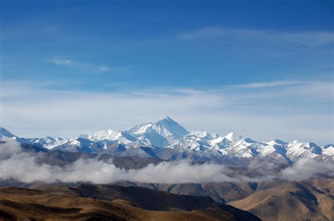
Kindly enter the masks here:
[[[6, 146], [4, 146], [6, 145]], [[0, 144], [0, 156], [4, 147], [13, 143]], [[37, 164], [37, 156], [29, 153], [13, 152], [9, 158], [0, 159], [0, 179], [15, 179], [20, 182], [92, 182], [108, 184], [120, 181], [154, 183], [189, 183], [189, 182], [237, 182], [237, 179], [224, 175], [223, 165], [193, 165], [187, 161], [163, 162], [147, 165], [138, 170], [124, 170], [115, 165], [95, 159], [79, 159], [66, 167]]]

